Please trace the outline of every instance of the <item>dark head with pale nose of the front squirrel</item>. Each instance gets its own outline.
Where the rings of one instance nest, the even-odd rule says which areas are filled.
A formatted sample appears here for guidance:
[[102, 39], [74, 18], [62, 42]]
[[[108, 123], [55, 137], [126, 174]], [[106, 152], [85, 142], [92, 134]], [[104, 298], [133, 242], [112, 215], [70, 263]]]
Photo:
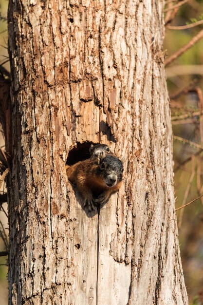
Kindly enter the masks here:
[[122, 181], [123, 163], [114, 155], [106, 155], [100, 159], [97, 174], [104, 177], [105, 184], [112, 188]]

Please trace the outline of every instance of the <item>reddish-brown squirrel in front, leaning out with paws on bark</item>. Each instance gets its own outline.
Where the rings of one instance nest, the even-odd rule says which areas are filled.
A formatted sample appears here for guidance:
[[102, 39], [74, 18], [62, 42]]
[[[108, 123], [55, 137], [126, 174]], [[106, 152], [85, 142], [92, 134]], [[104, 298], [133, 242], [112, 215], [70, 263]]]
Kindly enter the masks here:
[[116, 156], [100, 152], [98, 158], [66, 165], [71, 183], [84, 199], [84, 207], [94, 210], [94, 204], [105, 203], [111, 193], [118, 191], [122, 183], [123, 163]]

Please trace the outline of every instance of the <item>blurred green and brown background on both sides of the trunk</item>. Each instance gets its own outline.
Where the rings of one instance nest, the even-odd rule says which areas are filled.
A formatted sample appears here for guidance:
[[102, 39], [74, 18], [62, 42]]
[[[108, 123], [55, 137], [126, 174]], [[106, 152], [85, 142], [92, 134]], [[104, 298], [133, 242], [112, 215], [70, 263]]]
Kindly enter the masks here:
[[[0, 0], [0, 68], [7, 78], [8, 0]], [[176, 209], [203, 194], [203, 0], [167, 0], [166, 77], [174, 133]], [[174, 57], [171, 57], [174, 55]], [[0, 147], [4, 148], [0, 134]], [[5, 191], [2, 184], [0, 193]], [[190, 305], [203, 305], [203, 197], [177, 210]], [[7, 207], [0, 209], [0, 251], [6, 250]], [[0, 257], [0, 304], [7, 305], [7, 256]]]

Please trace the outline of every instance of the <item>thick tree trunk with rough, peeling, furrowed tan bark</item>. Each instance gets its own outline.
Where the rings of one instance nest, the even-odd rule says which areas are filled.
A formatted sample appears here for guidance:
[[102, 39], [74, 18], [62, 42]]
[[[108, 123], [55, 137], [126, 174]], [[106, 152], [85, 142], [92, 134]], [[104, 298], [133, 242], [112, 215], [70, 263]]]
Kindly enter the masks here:
[[[187, 304], [163, 1], [10, 0], [8, 22], [9, 304]], [[124, 183], [89, 215], [65, 163], [98, 142]]]

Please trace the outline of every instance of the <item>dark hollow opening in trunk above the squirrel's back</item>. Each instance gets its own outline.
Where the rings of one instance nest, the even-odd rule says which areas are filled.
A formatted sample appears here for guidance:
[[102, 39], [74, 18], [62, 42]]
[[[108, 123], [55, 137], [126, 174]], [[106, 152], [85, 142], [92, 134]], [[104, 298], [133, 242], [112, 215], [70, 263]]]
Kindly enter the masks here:
[[83, 161], [90, 158], [90, 146], [91, 144], [96, 145], [99, 143], [93, 143], [93, 142], [84, 142], [84, 143], [77, 143], [77, 145], [70, 150], [68, 154], [68, 159], [66, 161], [67, 165], [73, 165], [79, 161]]

